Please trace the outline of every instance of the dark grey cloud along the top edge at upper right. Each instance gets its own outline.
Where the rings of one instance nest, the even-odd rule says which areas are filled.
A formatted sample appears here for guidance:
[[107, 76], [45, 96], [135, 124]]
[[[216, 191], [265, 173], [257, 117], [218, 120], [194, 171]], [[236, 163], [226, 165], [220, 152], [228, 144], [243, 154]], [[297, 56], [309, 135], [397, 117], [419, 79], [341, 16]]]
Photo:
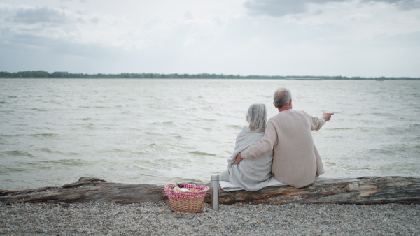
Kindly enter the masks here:
[[[349, 0], [248, 0], [244, 7], [249, 15], [269, 15], [282, 17], [284, 15], [304, 13], [307, 3], [323, 4]], [[384, 2], [395, 4], [400, 10], [420, 8], [420, 0], [362, 0], [361, 3]]]

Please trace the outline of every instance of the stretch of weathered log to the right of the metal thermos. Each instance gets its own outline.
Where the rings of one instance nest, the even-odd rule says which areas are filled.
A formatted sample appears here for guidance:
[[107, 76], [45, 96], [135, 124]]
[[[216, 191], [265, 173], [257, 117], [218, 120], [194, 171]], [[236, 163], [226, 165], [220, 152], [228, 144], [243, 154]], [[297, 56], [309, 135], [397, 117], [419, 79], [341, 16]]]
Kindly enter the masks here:
[[296, 189], [272, 186], [260, 191], [221, 192], [221, 204], [251, 202], [253, 204], [284, 203], [420, 203], [420, 179], [409, 177], [360, 177], [354, 179], [316, 179]]

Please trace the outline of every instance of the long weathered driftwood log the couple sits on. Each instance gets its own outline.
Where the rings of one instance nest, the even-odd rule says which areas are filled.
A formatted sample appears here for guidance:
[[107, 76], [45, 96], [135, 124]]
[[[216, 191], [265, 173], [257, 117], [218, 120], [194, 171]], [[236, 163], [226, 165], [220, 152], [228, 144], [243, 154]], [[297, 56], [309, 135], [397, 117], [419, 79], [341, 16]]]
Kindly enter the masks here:
[[[209, 186], [209, 184], [206, 184]], [[161, 202], [167, 197], [164, 186], [151, 184], [118, 184], [102, 179], [80, 178], [78, 182], [41, 189], [0, 190], [0, 202], [13, 203], [85, 203], [116, 202], [120, 204]], [[270, 186], [260, 191], [219, 191], [220, 204], [339, 203], [381, 204], [420, 203], [420, 178], [360, 177], [351, 179], [316, 179], [296, 189], [292, 186]], [[204, 202], [211, 201], [207, 193]]]

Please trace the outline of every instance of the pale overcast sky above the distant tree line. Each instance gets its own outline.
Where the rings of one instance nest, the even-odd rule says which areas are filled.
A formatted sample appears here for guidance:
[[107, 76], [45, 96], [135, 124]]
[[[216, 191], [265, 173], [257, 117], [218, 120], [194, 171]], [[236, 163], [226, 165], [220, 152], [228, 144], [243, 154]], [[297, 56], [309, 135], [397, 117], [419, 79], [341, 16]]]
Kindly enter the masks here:
[[420, 77], [420, 0], [0, 0], [0, 71]]

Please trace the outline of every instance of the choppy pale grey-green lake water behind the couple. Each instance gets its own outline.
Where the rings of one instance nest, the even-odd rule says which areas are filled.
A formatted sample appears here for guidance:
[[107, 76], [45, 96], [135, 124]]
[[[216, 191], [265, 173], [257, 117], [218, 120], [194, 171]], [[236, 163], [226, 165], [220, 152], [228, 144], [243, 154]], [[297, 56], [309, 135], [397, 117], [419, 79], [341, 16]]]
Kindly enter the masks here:
[[207, 183], [227, 167], [251, 103], [335, 112], [312, 132], [321, 177], [420, 177], [420, 81], [0, 80], [0, 189]]

